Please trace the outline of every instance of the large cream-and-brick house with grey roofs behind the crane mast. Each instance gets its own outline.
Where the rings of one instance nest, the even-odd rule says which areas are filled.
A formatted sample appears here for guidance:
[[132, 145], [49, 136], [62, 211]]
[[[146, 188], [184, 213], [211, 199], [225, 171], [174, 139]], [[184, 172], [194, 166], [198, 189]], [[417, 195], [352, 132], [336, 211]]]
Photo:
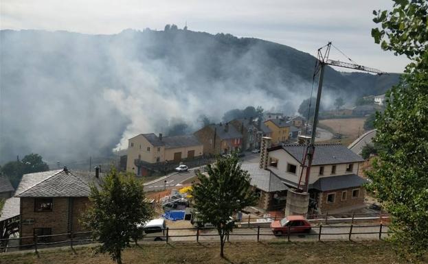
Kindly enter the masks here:
[[[262, 145], [269, 145], [270, 139]], [[304, 184], [307, 160], [302, 164], [306, 145], [286, 144], [262, 150], [260, 165], [243, 165], [251, 176], [251, 184], [260, 192], [259, 206], [264, 210], [285, 207], [286, 190]], [[308, 191], [310, 209], [314, 213], [339, 213], [363, 208], [365, 179], [359, 173], [364, 160], [350, 149], [338, 144], [315, 145]]]

